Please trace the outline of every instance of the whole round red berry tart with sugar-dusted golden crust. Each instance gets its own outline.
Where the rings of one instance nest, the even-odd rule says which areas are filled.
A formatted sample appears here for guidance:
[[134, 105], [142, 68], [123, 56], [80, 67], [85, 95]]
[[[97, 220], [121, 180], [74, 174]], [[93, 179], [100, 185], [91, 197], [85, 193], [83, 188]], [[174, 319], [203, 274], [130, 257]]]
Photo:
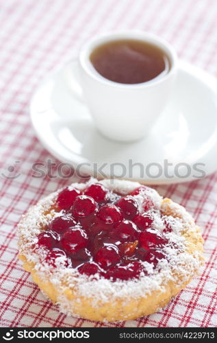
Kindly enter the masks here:
[[119, 321], [164, 307], [199, 272], [203, 239], [192, 216], [129, 180], [91, 178], [23, 215], [19, 258], [60, 311]]

